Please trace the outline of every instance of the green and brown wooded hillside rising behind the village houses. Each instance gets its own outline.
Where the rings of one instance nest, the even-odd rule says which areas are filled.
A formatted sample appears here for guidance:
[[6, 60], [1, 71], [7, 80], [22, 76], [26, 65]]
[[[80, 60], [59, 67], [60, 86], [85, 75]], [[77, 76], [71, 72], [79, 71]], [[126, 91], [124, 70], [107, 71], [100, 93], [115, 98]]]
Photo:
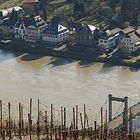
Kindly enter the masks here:
[[[44, 0], [40, 1], [44, 2]], [[88, 23], [101, 29], [139, 24], [140, 1], [133, 0], [133, 3], [128, 0], [122, 1], [67, 0], [65, 3], [64, 0], [55, 0], [43, 6], [47, 9], [48, 20], [54, 15], [60, 15], [64, 23]], [[0, 9], [21, 4], [22, 0], [1, 0]]]

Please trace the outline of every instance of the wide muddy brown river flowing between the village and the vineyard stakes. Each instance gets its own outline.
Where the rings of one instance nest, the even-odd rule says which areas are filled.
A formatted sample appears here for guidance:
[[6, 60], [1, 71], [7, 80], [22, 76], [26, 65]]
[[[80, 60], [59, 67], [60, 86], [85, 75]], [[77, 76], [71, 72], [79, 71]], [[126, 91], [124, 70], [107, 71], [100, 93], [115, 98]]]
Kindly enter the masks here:
[[[28, 110], [29, 98], [42, 108], [50, 104], [59, 109], [86, 104], [91, 118], [100, 107], [107, 108], [108, 94], [128, 96], [129, 105], [140, 101], [140, 71], [128, 67], [88, 63], [0, 51], [0, 98], [13, 108], [22, 102]], [[114, 112], [120, 105], [114, 104]], [[36, 109], [36, 107], [35, 107]], [[119, 111], [119, 110], [118, 110]], [[114, 113], [115, 114], [115, 113]]]

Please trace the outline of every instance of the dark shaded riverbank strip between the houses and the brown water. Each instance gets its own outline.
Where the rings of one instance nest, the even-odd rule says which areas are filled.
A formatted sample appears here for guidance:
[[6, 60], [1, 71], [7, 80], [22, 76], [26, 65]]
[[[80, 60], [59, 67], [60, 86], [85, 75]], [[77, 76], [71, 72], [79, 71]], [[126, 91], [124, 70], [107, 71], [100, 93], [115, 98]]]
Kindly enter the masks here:
[[[96, 48], [96, 47], [95, 47]], [[118, 66], [127, 66], [140, 68], [140, 61], [135, 56], [131, 58], [123, 58], [118, 55], [110, 56], [110, 53], [101, 53], [95, 48], [78, 47], [78, 46], [56, 46], [46, 43], [27, 43], [24, 41], [0, 41], [0, 49], [19, 51], [22, 53], [41, 54], [45, 56], [71, 58], [75, 60], [83, 60], [89, 62], [109, 63]], [[138, 58], [138, 56], [137, 56]]]

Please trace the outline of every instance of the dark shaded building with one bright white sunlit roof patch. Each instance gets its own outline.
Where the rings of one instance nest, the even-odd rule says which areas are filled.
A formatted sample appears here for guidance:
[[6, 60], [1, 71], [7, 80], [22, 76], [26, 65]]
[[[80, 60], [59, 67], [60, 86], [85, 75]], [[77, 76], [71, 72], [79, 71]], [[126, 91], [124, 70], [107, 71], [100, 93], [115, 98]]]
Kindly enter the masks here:
[[98, 43], [99, 28], [92, 25], [82, 25], [76, 32], [76, 43], [83, 46], [92, 46]]

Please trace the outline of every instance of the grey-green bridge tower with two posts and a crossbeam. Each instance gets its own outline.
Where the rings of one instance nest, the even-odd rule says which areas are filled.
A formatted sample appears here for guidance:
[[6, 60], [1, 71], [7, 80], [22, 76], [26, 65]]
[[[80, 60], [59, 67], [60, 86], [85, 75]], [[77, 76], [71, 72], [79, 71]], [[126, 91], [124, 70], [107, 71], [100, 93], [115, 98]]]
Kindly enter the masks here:
[[112, 94], [109, 94], [109, 122], [112, 121], [112, 101], [123, 102], [124, 103], [124, 112], [123, 112], [123, 125], [124, 131], [128, 132], [128, 97], [124, 98], [113, 97]]

